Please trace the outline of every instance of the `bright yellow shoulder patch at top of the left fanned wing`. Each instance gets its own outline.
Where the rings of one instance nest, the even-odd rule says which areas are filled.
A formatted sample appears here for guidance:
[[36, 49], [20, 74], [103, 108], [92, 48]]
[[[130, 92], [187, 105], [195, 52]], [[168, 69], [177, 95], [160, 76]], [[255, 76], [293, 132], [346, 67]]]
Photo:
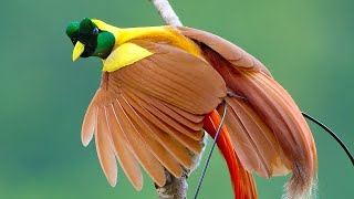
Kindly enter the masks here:
[[124, 43], [113, 50], [110, 56], [105, 61], [103, 61], [103, 71], [116, 71], [152, 54], [152, 52], [139, 45], [136, 45], [134, 43]]

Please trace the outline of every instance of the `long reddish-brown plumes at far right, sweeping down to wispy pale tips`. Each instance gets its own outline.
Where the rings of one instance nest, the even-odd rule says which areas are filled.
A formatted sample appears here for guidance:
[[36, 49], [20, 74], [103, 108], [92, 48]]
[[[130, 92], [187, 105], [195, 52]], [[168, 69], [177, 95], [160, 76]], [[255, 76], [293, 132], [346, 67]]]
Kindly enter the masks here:
[[[312, 190], [316, 184], [316, 151], [312, 134], [308, 124], [301, 115], [299, 108], [289, 101], [288, 93], [279, 90], [280, 85], [272, 80], [263, 77], [263, 74], [249, 74], [246, 73], [251, 91], [259, 96], [254, 101], [254, 106], [260, 109], [260, 114], [269, 119], [268, 123], [274, 130], [284, 153], [293, 163], [293, 176], [288, 184], [288, 196], [290, 198], [306, 197], [312, 195]], [[268, 81], [267, 83], [259, 81]], [[273, 86], [269, 86], [272, 84]], [[282, 94], [279, 94], [281, 92]], [[287, 97], [283, 97], [287, 96]], [[263, 109], [260, 108], [262, 106]], [[273, 121], [282, 121], [285, 130], [280, 129], [279, 125]]]

